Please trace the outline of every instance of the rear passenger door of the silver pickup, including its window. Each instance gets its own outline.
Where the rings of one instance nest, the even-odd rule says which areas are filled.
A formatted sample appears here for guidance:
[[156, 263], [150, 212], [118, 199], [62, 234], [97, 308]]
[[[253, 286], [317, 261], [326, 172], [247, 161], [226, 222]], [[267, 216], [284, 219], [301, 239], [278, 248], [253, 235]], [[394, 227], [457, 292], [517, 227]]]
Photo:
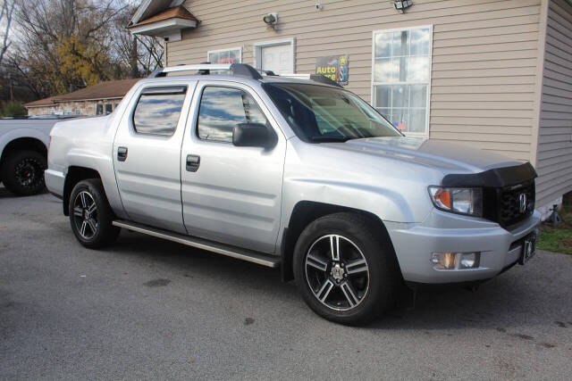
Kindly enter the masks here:
[[114, 140], [123, 209], [133, 221], [186, 233], [181, 207], [181, 142], [197, 82], [147, 84]]

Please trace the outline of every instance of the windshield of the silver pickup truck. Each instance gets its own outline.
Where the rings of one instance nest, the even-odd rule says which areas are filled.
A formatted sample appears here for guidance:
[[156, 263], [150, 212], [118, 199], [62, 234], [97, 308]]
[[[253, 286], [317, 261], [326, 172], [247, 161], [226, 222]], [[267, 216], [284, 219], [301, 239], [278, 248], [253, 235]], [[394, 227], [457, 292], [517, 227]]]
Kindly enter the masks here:
[[349, 91], [298, 83], [265, 83], [266, 93], [296, 135], [311, 143], [400, 137], [369, 104]]

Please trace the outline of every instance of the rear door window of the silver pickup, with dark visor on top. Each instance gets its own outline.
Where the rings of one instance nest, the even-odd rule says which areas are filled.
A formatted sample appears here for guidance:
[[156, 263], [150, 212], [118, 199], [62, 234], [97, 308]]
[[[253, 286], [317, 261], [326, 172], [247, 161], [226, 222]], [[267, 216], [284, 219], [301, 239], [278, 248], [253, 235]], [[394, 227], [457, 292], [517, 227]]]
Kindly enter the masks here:
[[139, 134], [171, 136], [177, 129], [187, 87], [149, 87], [143, 90], [133, 126]]

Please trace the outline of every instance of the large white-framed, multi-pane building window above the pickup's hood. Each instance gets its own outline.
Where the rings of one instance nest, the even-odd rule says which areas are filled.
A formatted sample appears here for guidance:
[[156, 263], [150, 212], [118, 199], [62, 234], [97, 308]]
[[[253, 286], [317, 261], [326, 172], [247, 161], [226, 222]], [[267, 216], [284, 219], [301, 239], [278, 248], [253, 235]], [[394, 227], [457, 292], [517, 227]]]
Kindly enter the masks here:
[[428, 132], [433, 27], [374, 32], [372, 103], [411, 136]]

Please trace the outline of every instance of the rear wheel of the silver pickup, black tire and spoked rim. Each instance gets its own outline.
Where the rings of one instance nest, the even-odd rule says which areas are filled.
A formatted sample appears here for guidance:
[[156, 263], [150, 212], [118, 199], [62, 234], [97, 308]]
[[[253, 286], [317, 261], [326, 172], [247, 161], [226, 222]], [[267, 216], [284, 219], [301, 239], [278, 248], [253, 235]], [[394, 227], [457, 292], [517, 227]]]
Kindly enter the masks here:
[[68, 204], [71, 230], [80, 244], [98, 249], [114, 243], [121, 228], [114, 227], [112, 211], [100, 179], [82, 180], [73, 187]]

